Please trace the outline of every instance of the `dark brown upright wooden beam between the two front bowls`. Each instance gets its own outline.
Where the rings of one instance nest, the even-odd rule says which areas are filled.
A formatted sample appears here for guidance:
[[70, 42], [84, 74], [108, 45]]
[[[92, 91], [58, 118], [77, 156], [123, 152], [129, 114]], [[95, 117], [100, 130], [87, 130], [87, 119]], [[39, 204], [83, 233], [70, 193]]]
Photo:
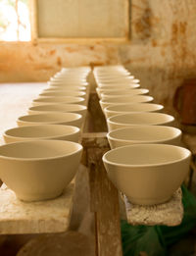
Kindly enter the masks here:
[[108, 179], [102, 156], [109, 144], [105, 133], [83, 134], [82, 145], [87, 155], [90, 184], [90, 209], [95, 213], [98, 256], [121, 256], [119, 192]]

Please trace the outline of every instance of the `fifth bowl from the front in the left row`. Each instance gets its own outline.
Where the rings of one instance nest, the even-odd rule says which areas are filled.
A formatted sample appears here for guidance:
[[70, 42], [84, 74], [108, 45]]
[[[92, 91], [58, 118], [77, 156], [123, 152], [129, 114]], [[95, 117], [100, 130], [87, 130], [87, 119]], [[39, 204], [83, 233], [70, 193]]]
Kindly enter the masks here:
[[62, 97], [38, 97], [32, 101], [32, 106], [40, 106], [45, 104], [85, 104], [84, 98], [73, 96]]

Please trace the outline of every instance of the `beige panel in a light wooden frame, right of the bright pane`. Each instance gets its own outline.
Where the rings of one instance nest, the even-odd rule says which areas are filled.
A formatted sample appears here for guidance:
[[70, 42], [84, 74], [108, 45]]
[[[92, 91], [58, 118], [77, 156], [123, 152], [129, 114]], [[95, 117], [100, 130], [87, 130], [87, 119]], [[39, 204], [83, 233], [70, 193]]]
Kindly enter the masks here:
[[38, 41], [125, 41], [129, 0], [32, 0], [32, 36]]

